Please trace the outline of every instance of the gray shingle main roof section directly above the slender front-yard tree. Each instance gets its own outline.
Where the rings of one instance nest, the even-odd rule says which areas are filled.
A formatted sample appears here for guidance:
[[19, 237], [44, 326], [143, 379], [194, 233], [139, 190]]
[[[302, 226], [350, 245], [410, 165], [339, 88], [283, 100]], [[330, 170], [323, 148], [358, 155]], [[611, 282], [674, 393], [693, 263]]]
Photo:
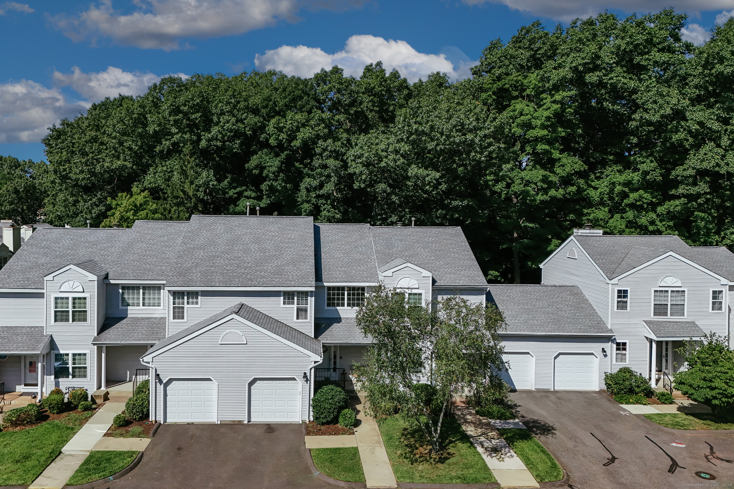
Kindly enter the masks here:
[[377, 266], [396, 257], [429, 271], [434, 285], [487, 285], [460, 227], [372, 227]]

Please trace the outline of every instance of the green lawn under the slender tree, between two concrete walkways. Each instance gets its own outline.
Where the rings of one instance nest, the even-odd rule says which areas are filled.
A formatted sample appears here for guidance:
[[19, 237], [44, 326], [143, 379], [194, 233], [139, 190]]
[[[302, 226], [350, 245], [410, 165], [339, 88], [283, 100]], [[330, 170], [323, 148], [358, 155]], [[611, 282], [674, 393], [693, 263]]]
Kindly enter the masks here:
[[[455, 419], [443, 419], [441, 427], [442, 438], [449, 451], [454, 456], [443, 463], [428, 462], [410, 463], [401, 452], [410, 452], [402, 437], [404, 428], [407, 428], [400, 416], [391, 416], [379, 425], [385, 450], [388, 452], [393, 472], [398, 482], [413, 482], [417, 484], [483, 484], [497, 482], [482, 455], [469, 441], [459, 423]], [[420, 438], [418, 431], [407, 431], [408, 435]]]

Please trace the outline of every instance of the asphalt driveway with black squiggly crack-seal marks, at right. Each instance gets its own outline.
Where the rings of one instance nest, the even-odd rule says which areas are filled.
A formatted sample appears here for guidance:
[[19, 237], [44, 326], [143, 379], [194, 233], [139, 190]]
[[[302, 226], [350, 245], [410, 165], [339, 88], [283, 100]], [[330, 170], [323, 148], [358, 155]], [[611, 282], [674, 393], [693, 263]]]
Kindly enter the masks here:
[[[528, 427], [569, 472], [570, 488], [734, 483], [734, 462], [715, 458], [734, 460], [734, 433], [667, 430], [639, 414], [619, 413], [625, 410], [603, 392], [518, 391], [510, 396]], [[674, 441], [686, 446], [672, 446]], [[713, 474], [719, 485], [700, 485], [706, 481], [696, 471]]]

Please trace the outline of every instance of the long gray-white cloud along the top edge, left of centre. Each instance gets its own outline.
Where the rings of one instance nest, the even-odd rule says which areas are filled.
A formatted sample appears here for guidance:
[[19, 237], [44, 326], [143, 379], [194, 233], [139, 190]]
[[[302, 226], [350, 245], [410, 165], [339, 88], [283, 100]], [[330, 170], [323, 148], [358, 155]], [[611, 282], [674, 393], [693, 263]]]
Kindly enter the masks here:
[[[278, 21], [298, 21], [303, 8], [342, 10], [365, 0], [134, 0], [139, 10], [122, 14], [112, 0], [101, 0], [78, 15], [57, 15], [49, 20], [75, 42], [111, 37], [117, 44], [171, 51], [186, 37], [206, 39], [242, 34], [272, 26]], [[184, 46], [186, 47], [186, 46]]]

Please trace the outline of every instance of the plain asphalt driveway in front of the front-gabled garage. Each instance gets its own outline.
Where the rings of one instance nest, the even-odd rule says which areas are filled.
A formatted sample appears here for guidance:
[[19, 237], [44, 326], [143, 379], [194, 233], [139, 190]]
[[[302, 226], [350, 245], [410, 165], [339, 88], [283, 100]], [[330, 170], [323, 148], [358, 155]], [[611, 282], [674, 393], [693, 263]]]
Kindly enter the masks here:
[[300, 424], [163, 424], [139, 465], [110, 487], [333, 489], [306, 460]]

